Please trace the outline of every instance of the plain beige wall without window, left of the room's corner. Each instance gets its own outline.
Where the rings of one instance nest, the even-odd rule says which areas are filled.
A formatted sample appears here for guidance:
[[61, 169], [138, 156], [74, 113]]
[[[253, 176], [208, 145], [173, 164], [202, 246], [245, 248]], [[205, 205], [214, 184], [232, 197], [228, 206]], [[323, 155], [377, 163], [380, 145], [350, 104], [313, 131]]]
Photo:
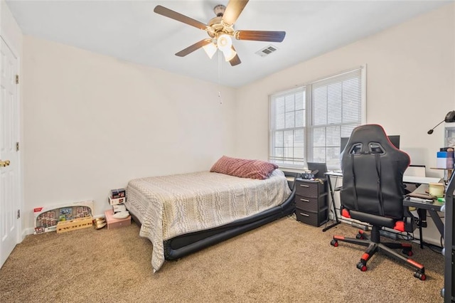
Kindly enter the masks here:
[[[24, 36], [25, 212], [130, 179], [210, 169], [234, 147], [234, 90]], [[26, 218], [30, 226], [31, 217]]]

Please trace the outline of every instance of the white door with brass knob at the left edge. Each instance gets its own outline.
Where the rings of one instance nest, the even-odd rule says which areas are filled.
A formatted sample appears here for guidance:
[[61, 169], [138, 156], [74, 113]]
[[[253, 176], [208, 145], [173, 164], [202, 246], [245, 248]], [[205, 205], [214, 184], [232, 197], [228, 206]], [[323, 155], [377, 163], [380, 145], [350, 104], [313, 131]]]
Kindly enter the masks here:
[[0, 47], [0, 267], [18, 243], [17, 58], [3, 38]]

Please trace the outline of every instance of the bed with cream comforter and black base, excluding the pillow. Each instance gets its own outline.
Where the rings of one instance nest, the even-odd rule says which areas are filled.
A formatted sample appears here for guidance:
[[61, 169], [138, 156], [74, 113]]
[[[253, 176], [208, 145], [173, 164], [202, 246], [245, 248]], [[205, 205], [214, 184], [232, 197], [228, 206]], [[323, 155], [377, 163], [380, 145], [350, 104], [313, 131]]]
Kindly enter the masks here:
[[294, 194], [279, 169], [263, 180], [199, 171], [129, 181], [125, 206], [153, 245], [156, 272], [165, 260], [291, 214]]

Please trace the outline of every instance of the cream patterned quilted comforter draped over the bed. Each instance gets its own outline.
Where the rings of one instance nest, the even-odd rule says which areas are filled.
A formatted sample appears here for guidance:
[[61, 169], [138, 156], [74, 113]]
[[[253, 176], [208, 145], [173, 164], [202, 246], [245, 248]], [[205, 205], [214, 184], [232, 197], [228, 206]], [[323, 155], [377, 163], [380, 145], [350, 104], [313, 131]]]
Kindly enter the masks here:
[[282, 171], [255, 180], [200, 171], [134, 179], [127, 186], [128, 210], [153, 244], [154, 272], [164, 263], [163, 241], [247, 218], [283, 203], [291, 193]]

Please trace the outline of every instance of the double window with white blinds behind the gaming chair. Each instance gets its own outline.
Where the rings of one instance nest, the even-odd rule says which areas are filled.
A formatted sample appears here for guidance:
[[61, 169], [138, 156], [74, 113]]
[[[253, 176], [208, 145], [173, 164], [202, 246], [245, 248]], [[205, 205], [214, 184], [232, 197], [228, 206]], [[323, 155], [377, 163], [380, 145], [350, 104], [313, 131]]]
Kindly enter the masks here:
[[269, 161], [340, 168], [341, 137], [365, 122], [365, 67], [270, 96]]

